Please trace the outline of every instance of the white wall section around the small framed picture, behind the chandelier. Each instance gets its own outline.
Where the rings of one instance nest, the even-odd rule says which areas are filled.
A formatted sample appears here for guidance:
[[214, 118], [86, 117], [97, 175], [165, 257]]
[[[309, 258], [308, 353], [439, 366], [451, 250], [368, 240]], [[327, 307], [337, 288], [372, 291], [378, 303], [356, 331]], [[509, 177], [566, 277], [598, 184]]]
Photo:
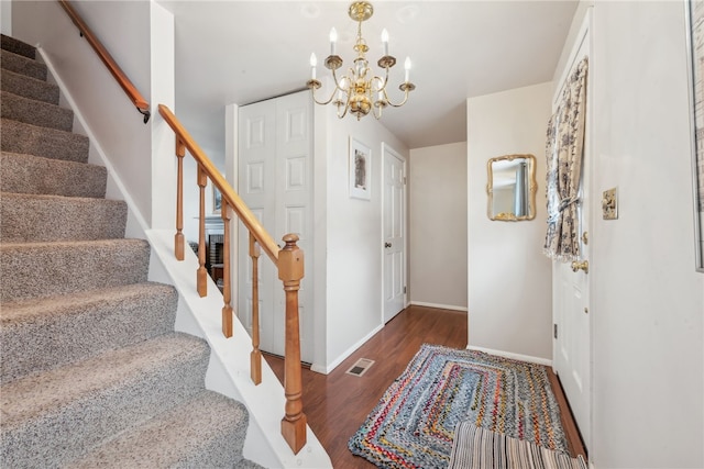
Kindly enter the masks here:
[[[327, 110], [327, 350], [331, 369], [383, 325], [382, 143], [408, 158], [408, 148], [369, 115], [339, 120]], [[389, 112], [394, 112], [391, 110]], [[350, 199], [349, 141], [371, 148], [371, 201]], [[316, 154], [316, 158], [319, 155]], [[318, 215], [317, 215], [318, 216]], [[322, 278], [322, 277], [319, 277]]]

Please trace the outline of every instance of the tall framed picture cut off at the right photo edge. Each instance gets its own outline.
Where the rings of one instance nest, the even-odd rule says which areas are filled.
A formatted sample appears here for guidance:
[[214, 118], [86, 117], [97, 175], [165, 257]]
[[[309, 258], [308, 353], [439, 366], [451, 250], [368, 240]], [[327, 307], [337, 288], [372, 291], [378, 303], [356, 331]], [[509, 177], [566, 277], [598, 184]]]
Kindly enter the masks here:
[[704, 272], [704, 1], [685, 1], [696, 270]]

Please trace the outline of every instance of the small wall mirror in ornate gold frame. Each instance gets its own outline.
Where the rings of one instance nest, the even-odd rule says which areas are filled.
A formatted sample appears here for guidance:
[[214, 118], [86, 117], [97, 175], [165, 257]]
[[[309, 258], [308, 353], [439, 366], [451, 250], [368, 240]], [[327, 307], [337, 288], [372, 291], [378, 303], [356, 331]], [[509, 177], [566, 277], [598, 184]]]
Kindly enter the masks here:
[[504, 155], [486, 164], [490, 220], [519, 222], [536, 217], [536, 157]]

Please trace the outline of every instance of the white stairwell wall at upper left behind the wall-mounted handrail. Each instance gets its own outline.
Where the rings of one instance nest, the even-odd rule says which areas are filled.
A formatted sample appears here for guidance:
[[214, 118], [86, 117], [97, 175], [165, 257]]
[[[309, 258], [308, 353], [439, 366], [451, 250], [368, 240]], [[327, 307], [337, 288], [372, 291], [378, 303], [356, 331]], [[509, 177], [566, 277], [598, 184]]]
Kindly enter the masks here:
[[[116, 62], [145, 99], [151, 100], [151, 3], [72, 4], [91, 30], [99, 32], [99, 40]], [[150, 223], [152, 125], [157, 118], [152, 115], [150, 124], [143, 123], [142, 115], [88, 42], [79, 36], [58, 2], [12, 2], [12, 34], [42, 47], [75, 100], [77, 110], [90, 123], [90, 132], [97, 139], [94, 143], [100, 145], [141, 217]], [[154, 103], [152, 105], [155, 111]]]

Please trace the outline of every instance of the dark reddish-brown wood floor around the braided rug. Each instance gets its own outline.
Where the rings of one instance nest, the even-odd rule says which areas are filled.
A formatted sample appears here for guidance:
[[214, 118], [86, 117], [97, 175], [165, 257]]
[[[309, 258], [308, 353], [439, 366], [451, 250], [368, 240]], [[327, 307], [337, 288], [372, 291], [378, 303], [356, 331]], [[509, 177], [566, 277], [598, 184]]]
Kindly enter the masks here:
[[[464, 348], [466, 327], [466, 313], [409, 306], [330, 375], [304, 369], [304, 412], [308, 417], [308, 425], [330, 455], [336, 469], [374, 468], [374, 465], [350, 453], [348, 440], [362, 425], [384, 391], [406, 369], [420, 345], [426, 343]], [[271, 355], [265, 355], [265, 358], [278, 379], [283, 380], [283, 359]], [[375, 362], [362, 377], [348, 375], [345, 371], [360, 358], [369, 358]], [[563, 417], [568, 414], [563, 418], [563, 426], [572, 454], [584, 455], [566, 401], [559, 389], [557, 377], [553, 378]]]

